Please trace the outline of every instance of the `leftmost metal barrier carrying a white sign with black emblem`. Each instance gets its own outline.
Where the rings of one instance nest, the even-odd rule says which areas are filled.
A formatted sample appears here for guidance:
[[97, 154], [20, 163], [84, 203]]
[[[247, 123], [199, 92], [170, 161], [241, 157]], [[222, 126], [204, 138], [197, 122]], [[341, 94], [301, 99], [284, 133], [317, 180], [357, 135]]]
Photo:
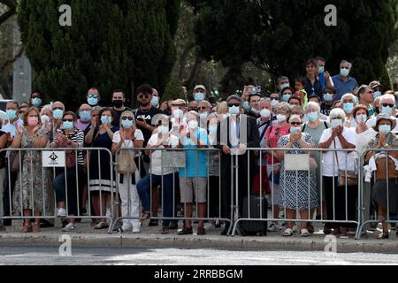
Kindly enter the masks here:
[[[4, 211], [7, 215], [3, 219], [98, 218], [102, 228], [108, 226], [106, 219], [112, 226], [115, 215], [110, 150], [9, 148], [0, 153], [4, 151], [6, 186], [1, 184], [0, 189], [6, 193], [9, 211]], [[85, 191], [88, 203], [82, 202]], [[92, 203], [92, 196], [95, 196], [95, 203]], [[83, 215], [86, 205], [87, 213]], [[57, 210], [59, 208], [65, 210]]]

